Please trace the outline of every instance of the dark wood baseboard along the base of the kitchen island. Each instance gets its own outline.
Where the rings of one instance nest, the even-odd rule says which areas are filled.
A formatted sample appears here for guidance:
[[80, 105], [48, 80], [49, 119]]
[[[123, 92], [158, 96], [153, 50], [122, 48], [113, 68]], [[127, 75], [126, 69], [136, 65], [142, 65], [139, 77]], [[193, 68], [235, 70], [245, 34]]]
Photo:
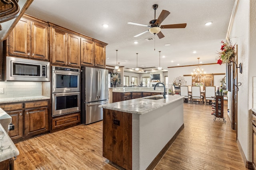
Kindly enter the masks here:
[[146, 168], [146, 170], [154, 170], [154, 168], [156, 167], [156, 165], [158, 164], [158, 162], [162, 159], [162, 157], [163, 157], [164, 154], [167, 152], [167, 150], [170, 148], [170, 146], [172, 145], [172, 143], [174, 143], [175, 139], [178, 137], [178, 135], [180, 134], [180, 132], [182, 131], [182, 129], [184, 129], [184, 123], [181, 125], [181, 127], [178, 129], [178, 131], [174, 134], [174, 136], [172, 137], [172, 139], [170, 139], [170, 141], [164, 146], [164, 148], [158, 153], [158, 155], [156, 155], [156, 157], [155, 157], [154, 160], [150, 163], [150, 165], [148, 166], [148, 168]]

